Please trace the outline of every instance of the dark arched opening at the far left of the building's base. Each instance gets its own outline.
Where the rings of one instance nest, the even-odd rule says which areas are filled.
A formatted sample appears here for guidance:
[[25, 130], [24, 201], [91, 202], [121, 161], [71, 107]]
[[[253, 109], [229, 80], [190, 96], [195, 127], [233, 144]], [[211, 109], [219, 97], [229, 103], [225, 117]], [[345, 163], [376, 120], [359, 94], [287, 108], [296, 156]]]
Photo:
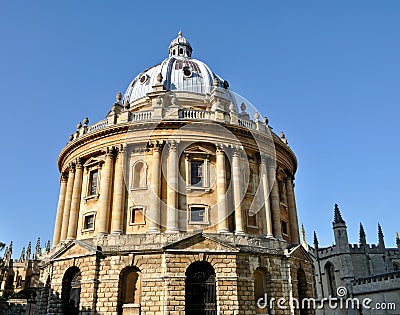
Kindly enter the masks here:
[[67, 269], [62, 280], [61, 300], [64, 314], [79, 314], [81, 271], [73, 266]]

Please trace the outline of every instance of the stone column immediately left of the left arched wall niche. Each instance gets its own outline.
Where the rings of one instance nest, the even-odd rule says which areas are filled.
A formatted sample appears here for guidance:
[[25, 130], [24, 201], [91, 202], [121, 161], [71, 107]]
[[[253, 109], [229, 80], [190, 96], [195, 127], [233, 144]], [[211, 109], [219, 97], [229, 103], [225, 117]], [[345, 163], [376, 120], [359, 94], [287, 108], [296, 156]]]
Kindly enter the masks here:
[[121, 145], [118, 149], [118, 156], [115, 162], [115, 183], [114, 195], [112, 203], [112, 222], [111, 233], [122, 234], [124, 226], [124, 209], [125, 209], [125, 163], [126, 163], [126, 148]]

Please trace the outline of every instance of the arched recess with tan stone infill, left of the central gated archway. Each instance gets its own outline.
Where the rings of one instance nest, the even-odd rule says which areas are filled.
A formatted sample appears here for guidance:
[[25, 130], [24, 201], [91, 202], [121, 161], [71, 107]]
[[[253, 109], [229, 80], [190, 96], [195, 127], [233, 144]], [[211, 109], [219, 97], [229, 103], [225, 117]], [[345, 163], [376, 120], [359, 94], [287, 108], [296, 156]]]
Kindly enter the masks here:
[[[122, 307], [132, 311], [129, 314], [139, 314], [142, 302], [141, 272], [136, 267], [128, 267], [121, 271], [118, 287], [118, 312], [122, 314]], [[135, 313], [136, 312], [136, 313]]]

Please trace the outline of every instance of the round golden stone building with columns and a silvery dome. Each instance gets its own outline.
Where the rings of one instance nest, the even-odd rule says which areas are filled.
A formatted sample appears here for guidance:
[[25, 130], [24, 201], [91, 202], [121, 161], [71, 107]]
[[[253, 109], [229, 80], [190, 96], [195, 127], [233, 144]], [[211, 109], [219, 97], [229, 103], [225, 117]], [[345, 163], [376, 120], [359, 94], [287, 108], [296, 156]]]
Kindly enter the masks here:
[[38, 313], [308, 314], [256, 303], [313, 295], [294, 153], [182, 33], [168, 53], [61, 151]]

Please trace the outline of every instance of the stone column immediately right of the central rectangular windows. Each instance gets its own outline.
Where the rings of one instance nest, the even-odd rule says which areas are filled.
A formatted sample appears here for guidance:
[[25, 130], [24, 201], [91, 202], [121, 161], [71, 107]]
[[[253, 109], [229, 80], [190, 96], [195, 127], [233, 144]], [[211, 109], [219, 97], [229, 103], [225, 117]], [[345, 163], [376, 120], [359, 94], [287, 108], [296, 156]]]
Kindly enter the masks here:
[[225, 154], [222, 146], [217, 145], [217, 202], [218, 202], [218, 233], [229, 233], [228, 207], [226, 202], [226, 168]]

